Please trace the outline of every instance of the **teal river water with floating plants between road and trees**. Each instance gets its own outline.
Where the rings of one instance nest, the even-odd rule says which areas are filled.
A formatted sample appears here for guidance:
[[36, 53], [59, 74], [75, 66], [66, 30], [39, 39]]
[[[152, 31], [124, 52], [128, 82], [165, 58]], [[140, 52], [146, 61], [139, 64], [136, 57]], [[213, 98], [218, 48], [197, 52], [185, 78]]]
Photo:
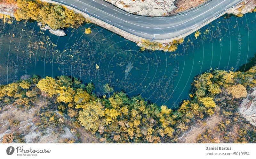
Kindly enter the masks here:
[[[35, 22], [0, 21], [0, 83], [23, 75], [68, 75], [93, 82], [98, 95], [110, 83], [128, 96], [141, 95], [175, 109], [189, 98], [194, 77], [211, 69], [242, 69], [256, 52], [256, 15], [224, 15], [186, 37], [175, 52], [140, 51], [135, 43], [93, 24], [58, 37]], [[91, 34], [84, 30], [91, 27]], [[251, 62], [252, 63], [252, 62]], [[96, 64], [99, 69], [96, 68]], [[241, 68], [243, 66], [243, 68]]]

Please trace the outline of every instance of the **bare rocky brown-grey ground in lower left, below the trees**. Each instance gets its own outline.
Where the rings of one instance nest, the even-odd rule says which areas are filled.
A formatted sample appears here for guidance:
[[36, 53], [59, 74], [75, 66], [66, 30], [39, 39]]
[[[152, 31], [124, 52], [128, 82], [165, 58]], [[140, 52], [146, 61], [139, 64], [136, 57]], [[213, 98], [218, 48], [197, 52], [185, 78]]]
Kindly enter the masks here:
[[[76, 128], [80, 136], [71, 133], [69, 120], [63, 117], [64, 122], [55, 128], [51, 126], [41, 130], [36, 126], [38, 122], [37, 112], [42, 106], [47, 105], [44, 99], [39, 99], [31, 109], [16, 108], [12, 104], [4, 105], [0, 111], [0, 143], [4, 134], [19, 133], [24, 136], [26, 143], [64, 143], [67, 141], [80, 141], [81, 143], [98, 143], [98, 139], [89, 134], [83, 127]], [[57, 112], [55, 112], [57, 113]], [[58, 113], [57, 113], [58, 114]], [[19, 121], [18, 125], [12, 126], [10, 121]]]

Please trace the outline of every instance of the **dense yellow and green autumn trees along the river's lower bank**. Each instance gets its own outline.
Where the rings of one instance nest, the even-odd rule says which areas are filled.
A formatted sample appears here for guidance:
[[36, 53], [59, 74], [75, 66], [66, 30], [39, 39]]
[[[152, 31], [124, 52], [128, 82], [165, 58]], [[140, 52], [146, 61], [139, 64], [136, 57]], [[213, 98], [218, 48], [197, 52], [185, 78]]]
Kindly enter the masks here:
[[[209, 117], [222, 108], [226, 116], [232, 115], [236, 101], [246, 97], [247, 90], [256, 86], [256, 67], [244, 73], [213, 70], [196, 77], [193, 85], [191, 99], [184, 100], [178, 110], [168, 109], [165, 105], [159, 107], [141, 96], [129, 98], [122, 91], [114, 92], [109, 84], [103, 86], [105, 95], [97, 96], [93, 83], [83, 84], [68, 76], [42, 79], [33, 76], [1, 85], [0, 100], [1, 105], [29, 109], [37, 98], [44, 97], [52, 105], [42, 107], [38, 112], [40, 119], [36, 125], [42, 128], [63, 122], [54, 112], [57, 109], [58, 114], [68, 115], [75, 128], [83, 126], [101, 142], [177, 142], [179, 134], [188, 130], [196, 120]], [[9, 135], [5, 141], [13, 139]], [[206, 139], [198, 137], [197, 140], [203, 142]]]

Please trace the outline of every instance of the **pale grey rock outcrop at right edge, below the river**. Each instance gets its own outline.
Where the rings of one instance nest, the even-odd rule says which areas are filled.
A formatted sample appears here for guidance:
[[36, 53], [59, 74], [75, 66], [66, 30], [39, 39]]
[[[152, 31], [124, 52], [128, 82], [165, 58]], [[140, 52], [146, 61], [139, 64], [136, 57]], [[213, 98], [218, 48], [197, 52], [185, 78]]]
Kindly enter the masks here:
[[256, 126], [256, 87], [239, 105], [239, 113], [252, 125]]

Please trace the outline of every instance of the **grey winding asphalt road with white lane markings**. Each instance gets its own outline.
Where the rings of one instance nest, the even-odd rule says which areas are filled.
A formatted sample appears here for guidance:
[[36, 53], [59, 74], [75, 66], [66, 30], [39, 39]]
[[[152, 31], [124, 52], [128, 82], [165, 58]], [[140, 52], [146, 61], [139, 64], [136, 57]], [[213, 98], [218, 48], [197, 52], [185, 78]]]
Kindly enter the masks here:
[[193, 10], [172, 17], [145, 17], [127, 13], [103, 0], [53, 0], [83, 11], [110, 25], [149, 40], [165, 40], [206, 25], [213, 18], [244, 0], [211, 0]]

